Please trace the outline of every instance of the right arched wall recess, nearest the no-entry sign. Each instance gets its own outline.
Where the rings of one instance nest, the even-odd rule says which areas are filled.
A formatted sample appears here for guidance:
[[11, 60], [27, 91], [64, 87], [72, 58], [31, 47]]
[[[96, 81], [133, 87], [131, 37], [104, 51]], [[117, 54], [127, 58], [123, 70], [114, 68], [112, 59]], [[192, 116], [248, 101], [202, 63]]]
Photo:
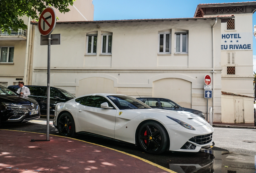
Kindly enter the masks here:
[[181, 78], [163, 78], [153, 82], [153, 97], [174, 101], [178, 105], [191, 108], [192, 82]]

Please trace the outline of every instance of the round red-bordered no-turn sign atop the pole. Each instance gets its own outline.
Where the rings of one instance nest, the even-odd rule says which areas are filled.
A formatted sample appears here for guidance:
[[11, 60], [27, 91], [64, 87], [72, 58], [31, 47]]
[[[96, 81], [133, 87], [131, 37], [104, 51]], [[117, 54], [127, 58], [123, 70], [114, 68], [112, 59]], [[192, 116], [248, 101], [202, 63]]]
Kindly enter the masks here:
[[52, 33], [56, 24], [56, 14], [53, 8], [47, 7], [43, 10], [39, 17], [38, 28], [43, 36]]

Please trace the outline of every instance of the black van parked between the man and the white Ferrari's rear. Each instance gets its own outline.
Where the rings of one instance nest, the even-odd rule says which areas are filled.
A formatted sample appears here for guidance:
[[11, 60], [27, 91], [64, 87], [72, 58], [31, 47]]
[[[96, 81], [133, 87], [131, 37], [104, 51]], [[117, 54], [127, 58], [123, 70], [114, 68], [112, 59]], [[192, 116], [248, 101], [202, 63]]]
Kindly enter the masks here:
[[[46, 86], [37, 86], [37, 85], [25, 85], [29, 88], [31, 97], [35, 99], [41, 109], [41, 115], [46, 115], [47, 113], [47, 87]], [[17, 92], [19, 89], [18, 85], [11, 85], [8, 89], [12, 90], [13, 92]], [[75, 97], [64, 89], [59, 89], [55, 87], [50, 87], [50, 115], [54, 116], [55, 112], [55, 105], [57, 103], [66, 102]]]

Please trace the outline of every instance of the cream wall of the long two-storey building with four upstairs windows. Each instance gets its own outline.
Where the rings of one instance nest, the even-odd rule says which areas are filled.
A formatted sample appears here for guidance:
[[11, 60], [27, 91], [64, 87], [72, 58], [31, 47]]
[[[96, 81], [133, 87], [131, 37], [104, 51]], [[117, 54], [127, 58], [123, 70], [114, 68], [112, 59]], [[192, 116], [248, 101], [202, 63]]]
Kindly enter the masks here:
[[[56, 24], [61, 45], [51, 46], [51, 86], [80, 96], [118, 93], [132, 97], [165, 97], [206, 113], [204, 76], [212, 76], [212, 28], [215, 20]], [[221, 119], [221, 24], [215, 25], [215, 113]], [[175, 31], [188, 30], [188, 54], [174, 54]], [[171, 54], [158, 54], [158, 32], [171, 31]], [[111, 32], [112, 54], [101, 55], [102, 33]], [[97, 54], [86, 54], [86, 34], [97, 33]], [[47, 46], [40, 46], [36, 26], [33, 84], [47, 83]], [[175, 90], [161, 86], [175, 82]], [[171, 86], [169, 86], [171, 87]], [[179, 95], [177, 95], [179, 93]], [[209, 99], [209, 106], [211, 106]]]

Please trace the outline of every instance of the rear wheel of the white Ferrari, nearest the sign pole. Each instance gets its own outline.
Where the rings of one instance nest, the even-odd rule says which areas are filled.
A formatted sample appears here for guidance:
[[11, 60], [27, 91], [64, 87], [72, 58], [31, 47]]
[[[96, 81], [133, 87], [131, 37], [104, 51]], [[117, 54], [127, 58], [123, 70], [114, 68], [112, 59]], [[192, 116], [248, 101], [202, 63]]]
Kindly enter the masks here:
[[75, 124], [74, 119], [70, 113], [63, 113], [58, 118], [58, 130], [62, 136], [74, 137]]

